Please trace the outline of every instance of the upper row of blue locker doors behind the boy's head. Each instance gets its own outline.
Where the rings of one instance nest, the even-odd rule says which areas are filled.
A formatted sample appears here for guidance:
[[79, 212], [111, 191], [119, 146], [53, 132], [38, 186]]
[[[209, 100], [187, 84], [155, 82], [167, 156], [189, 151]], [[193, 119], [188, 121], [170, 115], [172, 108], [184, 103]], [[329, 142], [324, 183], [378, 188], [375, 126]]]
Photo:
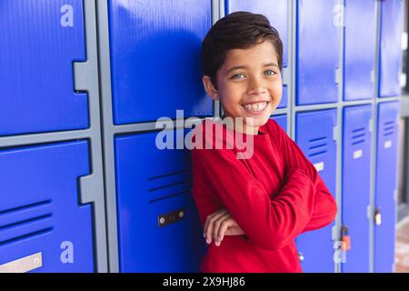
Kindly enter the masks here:
[[[84, 1], [92, 0], [2, 2], [0, 136], [89, 127], [88, 95], [73, 87], [73, 63], [86, 61]], [[199, 66], [201, 42], [211, 26], [211, 2], [106, 0], [115, 125], [175, 118], [176, 109], [185, 110], [185, 116], [213, 114]], [[294, 3], [296, 104], [338, 101], [343, 28], [344, 100], [373, 98], [375, 1], [345, 0], [344, 8], [338, 0]], [[225, 0], [224, 5], [226, 14], [246, 10], [269, 17], [283, 39], [287, 70], [288, 1]], [[385, 97], [400, 94], [404, 1], [382, 1], [381, 8], [379, 92]], [[344, 24], [337, 22], [343, 10]], [[284, 84], [279, 107], [287, 105]]]

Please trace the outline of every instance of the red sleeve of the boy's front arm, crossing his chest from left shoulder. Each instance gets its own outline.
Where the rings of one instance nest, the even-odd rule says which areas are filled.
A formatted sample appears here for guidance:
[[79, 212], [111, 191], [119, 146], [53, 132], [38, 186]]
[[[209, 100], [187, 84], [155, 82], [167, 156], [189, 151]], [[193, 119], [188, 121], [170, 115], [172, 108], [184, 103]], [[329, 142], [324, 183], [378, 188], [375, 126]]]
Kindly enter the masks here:
[[[288, 171], [280, 195], [271, 200], [232, 149], [193, 149], [192, 163], [194, 179], [201, 180], [198, 185], [220, 201], [256, 246], [269, 250], [287, 246], [310, 220], [315, 189], [302, 170]], [[194, 196], [200, 195], [197, 188], [194, 191]], [[201, 201], [205, 199], [197, 199], [196, 206], [203, 221], [212, 206]]]

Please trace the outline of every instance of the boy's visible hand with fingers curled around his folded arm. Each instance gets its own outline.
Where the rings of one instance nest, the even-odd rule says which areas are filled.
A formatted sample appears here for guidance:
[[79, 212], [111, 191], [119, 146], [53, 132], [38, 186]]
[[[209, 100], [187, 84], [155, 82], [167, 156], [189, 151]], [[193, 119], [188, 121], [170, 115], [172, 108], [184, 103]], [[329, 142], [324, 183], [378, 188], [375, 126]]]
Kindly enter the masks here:
[[211, 244], [213, 238], [214, 245], [220, 246], [224, 236], [242, 235], [245, 235], [243, 229], [235, 222], [226, 209], [218, 210], [207, 216], [204, 231], [207, 244]]

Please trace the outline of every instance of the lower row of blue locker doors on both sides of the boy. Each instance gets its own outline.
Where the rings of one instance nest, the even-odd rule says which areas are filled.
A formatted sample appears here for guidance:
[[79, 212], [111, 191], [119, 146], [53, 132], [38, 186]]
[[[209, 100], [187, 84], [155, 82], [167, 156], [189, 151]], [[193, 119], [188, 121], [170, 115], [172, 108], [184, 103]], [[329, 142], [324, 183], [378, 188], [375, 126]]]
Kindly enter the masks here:
[[[342, 270], [367, 272], [372, 105], [345, 107], [343, 114], [339, 209], [352, 247]], [[392, 272], [399, 102], [379, 104], [378, 115], [375, 205], [382, 224], [374, 231], [374, 271]], [[274, 118], [285, 129], [286, 116]], [[336, 120], [336, 109], [298, 113], [295, 119], [296, 141], [333, 195]], [[190, 153], [157, 149], [156, 133], [115, 136], [120, 271], [195, 272], [205, 242], [190, 195]], [[43, 266], [34, 272], [95, 270], [95, 218], [92, 206], [78, 201], [78, 179], [89, 174], [88, 146], [72, 141], [0, 151], [0, 266], [41, 253]], [[171, 223], [164, 224], [169, 216]], [[333, 226], [296, 238], [304, 272], [334, 272]]]

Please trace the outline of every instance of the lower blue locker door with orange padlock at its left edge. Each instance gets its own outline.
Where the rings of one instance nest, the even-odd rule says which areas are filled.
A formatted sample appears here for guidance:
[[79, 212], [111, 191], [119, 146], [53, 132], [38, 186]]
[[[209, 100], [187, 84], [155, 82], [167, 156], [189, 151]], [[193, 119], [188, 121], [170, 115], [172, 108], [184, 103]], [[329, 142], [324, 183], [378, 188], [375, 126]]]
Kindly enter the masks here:
[[342, 221], [351, 249], [341, 267], [343, 272], [368, 273], [372, 105], [345, 107], [343, 117]]

